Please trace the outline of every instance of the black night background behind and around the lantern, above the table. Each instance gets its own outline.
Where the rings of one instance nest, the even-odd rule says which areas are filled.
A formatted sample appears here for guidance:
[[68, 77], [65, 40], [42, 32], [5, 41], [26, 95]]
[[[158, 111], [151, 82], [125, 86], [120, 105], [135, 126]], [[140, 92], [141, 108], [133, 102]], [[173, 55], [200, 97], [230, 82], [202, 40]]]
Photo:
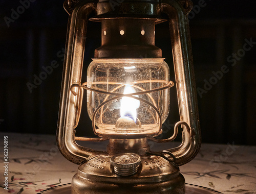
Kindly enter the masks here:
[[[55, 134], [68, 22], [63, 1], [34, 1], [10, 27], [4, 18], [11, 18], [12, 9], [21, 4], [0, 3], [0, 131]], [[189, 15], [197, 87], [205, 91], [198, 93], [202, 141], [255, 145], [256, 44], [250, 51], [242, 50], [246, 39], [256, 41], [256, 3], [205, 0], [204, 5]], [[100, 23], [89, 22], [84, 72], [100, 42]], [[167, 22], [156, 26], [156, 45], [162, 48], [175, 81]], [[232, 66], [229, 56], [238, 51], [242, 56]], [[39, 76], [45, 71], [42, 66], [53, 61], [59, 65], [30, 91], [27, 84], [34, 84], [34, 75]], [[223, 65], [228, 72], [205, 88], [206, 82], [215, 79], [212, 71], [220, 71]], [[86, 76], [82, 79], [86, 81]], [[167, 136], [179, 120], [175, 88], [171, 93], [170, 114], [163, 125]], [[77, 131], [93, 135], [85, 103]]]

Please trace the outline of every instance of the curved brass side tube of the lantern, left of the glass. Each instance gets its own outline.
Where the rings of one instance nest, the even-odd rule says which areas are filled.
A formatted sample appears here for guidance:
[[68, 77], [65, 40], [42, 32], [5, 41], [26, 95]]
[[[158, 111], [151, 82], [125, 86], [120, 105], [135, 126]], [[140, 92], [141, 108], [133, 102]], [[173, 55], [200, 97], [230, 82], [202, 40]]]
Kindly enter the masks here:
[[63, 67], [57, 144], [61, 154], [76, 164], [80, 164], [94, 154], [101, 153], [81, 147], [75, 142], [74, 126], [78, 99], [70, 90], [72, 84], [81, 83], [87, 23], [89, 14], [93, 11], [93, 2], [82, 1], [69, 16], [69, 32], [66, 42], [65, 66]]

